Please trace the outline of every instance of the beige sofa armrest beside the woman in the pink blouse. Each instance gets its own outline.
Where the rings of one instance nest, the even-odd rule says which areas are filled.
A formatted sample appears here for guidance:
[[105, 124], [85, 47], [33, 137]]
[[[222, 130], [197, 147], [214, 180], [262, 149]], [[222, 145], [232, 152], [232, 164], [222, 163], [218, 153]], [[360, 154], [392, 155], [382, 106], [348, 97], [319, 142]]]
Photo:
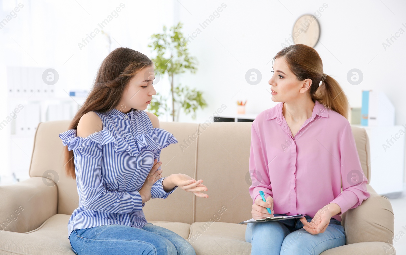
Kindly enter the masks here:
[[358, 242], [384, 242], [393, 244], [395, 216], [389, 199], [378, 195], [367, 184], [371, 196], [361, 205], [341, 215], [346, 232], [346, 244]]

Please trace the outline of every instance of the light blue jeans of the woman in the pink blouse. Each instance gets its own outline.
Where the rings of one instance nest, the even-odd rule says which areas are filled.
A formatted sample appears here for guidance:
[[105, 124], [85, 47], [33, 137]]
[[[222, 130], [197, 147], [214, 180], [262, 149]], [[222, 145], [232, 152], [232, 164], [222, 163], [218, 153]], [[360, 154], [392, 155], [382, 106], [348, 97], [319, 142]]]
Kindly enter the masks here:
[[[286, 214], [274, 214], [281, 216]], [[307, 222], [312, 218], [308, 215]], [[251, 242], [251, 255], [319, 255], [323, 251], [346, 244], [341, 222], [334, 218], [323, 233], [312, 235], [299, 219], [247, 223], [246, 242]]]

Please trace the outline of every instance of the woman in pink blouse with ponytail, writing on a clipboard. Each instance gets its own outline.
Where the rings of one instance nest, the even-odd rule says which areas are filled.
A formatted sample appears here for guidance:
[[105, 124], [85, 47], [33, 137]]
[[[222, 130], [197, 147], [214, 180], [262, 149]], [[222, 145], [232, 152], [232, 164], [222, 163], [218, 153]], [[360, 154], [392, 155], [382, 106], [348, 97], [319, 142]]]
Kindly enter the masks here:
[[346, 244], [340, 215], [369, 198], [367, 178], [347, 120], [347, 97], [323, 72], [317, 51], [290, 45], [273, 60], [269, 84], [272, 101], [280, 103], [251, 127], [252, 215], [306, 216], [248, 223], [246, 241], [252, 255], [318, 255]]

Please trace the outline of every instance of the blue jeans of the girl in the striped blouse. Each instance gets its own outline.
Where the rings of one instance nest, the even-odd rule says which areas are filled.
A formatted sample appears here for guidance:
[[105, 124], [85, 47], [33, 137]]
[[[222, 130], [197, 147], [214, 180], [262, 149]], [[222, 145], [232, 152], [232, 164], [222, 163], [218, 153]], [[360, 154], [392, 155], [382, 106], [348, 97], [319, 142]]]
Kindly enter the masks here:
[[76, 229], [69, 240], [76, 255], [196, 255], [183, 237], [152, 223], [142, 229], [125, 225]]

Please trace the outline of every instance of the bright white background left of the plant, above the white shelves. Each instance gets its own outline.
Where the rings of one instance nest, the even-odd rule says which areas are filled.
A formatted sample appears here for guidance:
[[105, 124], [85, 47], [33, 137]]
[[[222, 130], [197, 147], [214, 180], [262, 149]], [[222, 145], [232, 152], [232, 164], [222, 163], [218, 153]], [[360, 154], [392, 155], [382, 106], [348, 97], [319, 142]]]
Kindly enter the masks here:
[[[120, 5], [122, 2], [124, 7]], [[90, 89], [99, 65], [109, 53], [107, 37], [101, 33], [93, 34], [95, 37], [85, 47], [80, 48], [78, 43], [94, 32], [97, 24], [117, 7], [121, 6], [121, 11], [114, 14], [112, 21], [104, 28], [114, 38], [111, 50], [121, 46], [130, 47], [147, 55], [150, 55], [147, 47], [149, 36], [160, 32], [164, 24], [172, 24], [174, 13], [173, 2], [165, 0], [0, 0], [0, 21], [21, 5], [19, 11], [12, 13], [12, 18], [0, 29], [1, 120], [10, 114], [7, 107], [6, 66], [54, 68], [59, 74], [55, 84], [56, 94], [69, 99], [67, 93], [70, 89]], [[10, 124], [0, 131], [0, 177], [11, 174], [10, 145], [17, 143], [22, 160], [30, 162], [32, 147], [25, 148], [25, 144], [12, 140], [9, 134]], [[26, 165], [27, 172], [28, 167], [29, 164]], [[5, 181], [5, 178], [2, 179]]]

